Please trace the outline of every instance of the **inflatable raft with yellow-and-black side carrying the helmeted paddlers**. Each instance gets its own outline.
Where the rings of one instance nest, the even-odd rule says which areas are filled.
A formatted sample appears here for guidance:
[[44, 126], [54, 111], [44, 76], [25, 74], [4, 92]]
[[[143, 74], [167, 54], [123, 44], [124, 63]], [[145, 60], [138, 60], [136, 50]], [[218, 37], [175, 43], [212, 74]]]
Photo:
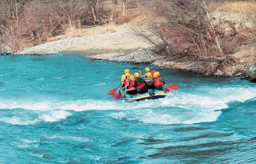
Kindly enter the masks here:
[[124, 89], [121, 89], [121, 95], [127, 99], [127, 100], [144, 100], [144, 99], [158, 99], [158, 98], [164, 98], [167, 93], [164, 90], [152, 90], [148, 89], [148, 91], [144, 94], [128, 94], [124, 91]]

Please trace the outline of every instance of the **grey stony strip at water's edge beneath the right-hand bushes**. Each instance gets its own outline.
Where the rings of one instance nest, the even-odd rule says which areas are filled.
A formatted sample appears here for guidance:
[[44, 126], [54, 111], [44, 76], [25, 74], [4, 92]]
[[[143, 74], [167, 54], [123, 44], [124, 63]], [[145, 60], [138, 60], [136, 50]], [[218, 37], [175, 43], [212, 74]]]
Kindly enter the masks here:
[[[98, 54], [87, 56], [91, 60], [106, 60], [119, 63], [133, 63], [133, 64], [148, 64], [154, 67], [159, 67], [160, 69], [174, 69], [174, 70], [184, 70], [192, 71], [204, 75], [207, 74], [207, 67], [205, 63], [200, 60], [172, 60], [171, 58], [166, 58], [166, 56], [159, 56], [154, 53], [154, 47], [148, 47], [140, 49], [139, 51], [132, 52], [125, 55], [122, 52], [108, 53], [108, 54]], [[240, 62], [235, 66], [227, 66], [225, 71], [217, 70], [214, 76], [217, 77], [242, 77], [254, 79], [256, 74], [256, 63], [246, 65]], [[216, 62], [212, 62], [211, 65], [216, 65]], [[254, 77], [254, 78], [253, 78]]]

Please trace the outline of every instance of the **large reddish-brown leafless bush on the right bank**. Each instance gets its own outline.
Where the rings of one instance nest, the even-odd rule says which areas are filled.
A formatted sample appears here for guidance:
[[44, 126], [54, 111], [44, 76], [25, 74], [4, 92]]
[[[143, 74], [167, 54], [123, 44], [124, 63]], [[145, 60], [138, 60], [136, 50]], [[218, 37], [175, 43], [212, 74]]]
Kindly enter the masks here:
[[[150, 9], [156, 14], [148, 30], [157, 38], [154, 42], [166, 55], [225, 57], [222, 50], [224, 29], [214, 15], [219, 3], [199, 0], [157, 0]], [[145, 36], [145, 35], [144, 35]], [[148, 39], [147, 38], [147, 39]]]

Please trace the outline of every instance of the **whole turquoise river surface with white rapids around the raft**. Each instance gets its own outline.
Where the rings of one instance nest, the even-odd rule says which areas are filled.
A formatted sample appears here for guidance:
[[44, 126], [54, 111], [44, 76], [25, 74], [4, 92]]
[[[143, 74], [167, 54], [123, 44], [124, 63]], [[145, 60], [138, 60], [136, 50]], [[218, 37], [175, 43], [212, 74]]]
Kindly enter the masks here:
[[58, 54], [0, 66], [0, 163], [256, 163], [246, 80], [161, 70], [179, 89], [136, 102], [107, 93], [145, 65]]

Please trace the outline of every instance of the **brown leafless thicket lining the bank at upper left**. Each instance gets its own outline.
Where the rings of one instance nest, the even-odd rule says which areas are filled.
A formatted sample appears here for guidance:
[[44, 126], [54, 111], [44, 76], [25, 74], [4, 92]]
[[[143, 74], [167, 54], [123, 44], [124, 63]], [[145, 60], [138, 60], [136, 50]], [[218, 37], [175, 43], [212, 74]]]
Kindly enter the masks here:
[[60, 34], [82, 36], [82, 27], [91, 25], [106, 24], [115, 32], [118, 15], [124, 16], [125, 9], [133, 3], [133, 0], [2, 0], [0, 30], [4, 44], [13, 52], [53, 40], [53, 36]]

